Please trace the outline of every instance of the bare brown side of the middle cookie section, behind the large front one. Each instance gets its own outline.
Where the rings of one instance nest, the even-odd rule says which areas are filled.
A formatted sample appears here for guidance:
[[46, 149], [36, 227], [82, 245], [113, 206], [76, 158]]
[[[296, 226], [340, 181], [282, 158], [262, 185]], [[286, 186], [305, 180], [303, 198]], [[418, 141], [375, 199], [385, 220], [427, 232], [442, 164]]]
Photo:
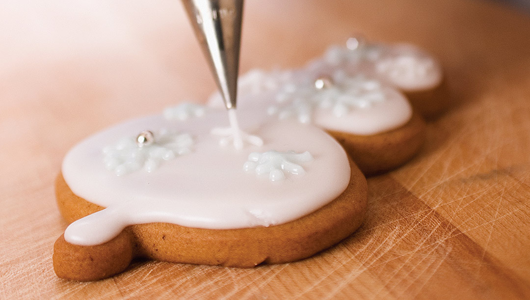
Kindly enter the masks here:
[[328, 130], [366, 175], [375, 175], [409, 161], [425, 142], [426, 125], [419, 113], [402, 127], [372, 136]]

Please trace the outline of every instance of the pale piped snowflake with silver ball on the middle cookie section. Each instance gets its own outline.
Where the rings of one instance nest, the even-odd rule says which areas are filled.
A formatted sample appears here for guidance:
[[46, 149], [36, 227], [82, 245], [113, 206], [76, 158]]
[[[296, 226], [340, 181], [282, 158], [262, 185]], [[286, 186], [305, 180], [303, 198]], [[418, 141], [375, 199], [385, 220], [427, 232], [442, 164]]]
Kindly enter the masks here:
[[279, 93], [277, 104], [271, 105], [268, 113], [278, 119], [295, 118], [301, 123], [310, 123], [315, 109], [331, 110], [335, 117], [342, 117], [351, 110], [369, 109], [386, 99], [384, 87], [376, 80], [364, 76], [347, 77], [335, 71], [329, 78], [331, 84], [315, 88], [315, 83], [299, 85], [291, 92]]

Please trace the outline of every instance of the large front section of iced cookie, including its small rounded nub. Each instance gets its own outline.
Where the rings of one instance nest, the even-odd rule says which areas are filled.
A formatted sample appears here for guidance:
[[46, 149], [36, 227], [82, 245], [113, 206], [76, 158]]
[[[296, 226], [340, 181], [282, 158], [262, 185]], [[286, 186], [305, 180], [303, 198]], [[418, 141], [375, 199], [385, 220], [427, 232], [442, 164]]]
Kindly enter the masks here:
[[[180, 105], [87, 138], [66, 155], [57, 202], [70, 224], [57, 276], [96, 280], [131, 259], [253, 267], [307, 258], [353, 233], [363, 174], [319, 128]], [[251, 133], [251, 134], [248, 134]], [[237, 149], [236, 149], [237, 148]]]

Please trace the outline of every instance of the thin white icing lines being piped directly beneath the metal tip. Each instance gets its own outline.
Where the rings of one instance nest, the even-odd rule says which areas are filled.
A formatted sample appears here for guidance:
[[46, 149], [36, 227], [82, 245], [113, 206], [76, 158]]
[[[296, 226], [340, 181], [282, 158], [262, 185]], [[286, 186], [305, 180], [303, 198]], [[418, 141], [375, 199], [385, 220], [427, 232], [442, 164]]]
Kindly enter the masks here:
[[224, 137], [219, 140], [219, 145], [226, 146], [230, 142], [234, 142], [234, 148], [236, 150], [243, 149], [244, 142], [254, 146], [263, 145], [263, 140], [259, 136], [249, 135], [241, 130], [239, 123], [237, 122], [237, 114], [235, 109], [228, 110], [228, 120], [230, 121], [230, 127], [217, 127], [211, 130], [211, 134]]

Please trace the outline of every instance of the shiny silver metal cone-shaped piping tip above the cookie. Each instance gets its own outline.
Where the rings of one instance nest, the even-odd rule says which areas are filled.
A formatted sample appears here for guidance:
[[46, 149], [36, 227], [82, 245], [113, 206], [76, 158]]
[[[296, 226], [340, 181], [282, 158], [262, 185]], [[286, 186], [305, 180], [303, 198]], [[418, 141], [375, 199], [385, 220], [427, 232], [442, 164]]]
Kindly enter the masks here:
[[236, 107], [243, 0], [182, 0], [226, 109]]

